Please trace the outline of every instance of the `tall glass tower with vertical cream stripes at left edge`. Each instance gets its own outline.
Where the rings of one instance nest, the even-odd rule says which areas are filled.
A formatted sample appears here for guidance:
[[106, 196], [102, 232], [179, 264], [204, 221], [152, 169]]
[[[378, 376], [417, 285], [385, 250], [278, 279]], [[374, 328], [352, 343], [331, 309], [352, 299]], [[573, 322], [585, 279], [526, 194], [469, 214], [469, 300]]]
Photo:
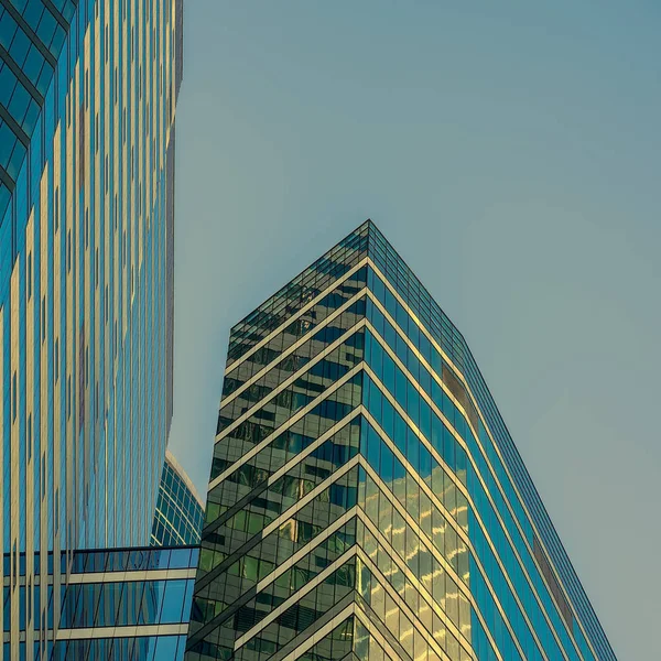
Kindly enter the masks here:
[[47, 629], [36, 577], [48, 552], [71, 562], [76, 548], [150, 542], [172, 415], [181, 78], [181, 0], [0, 0], [0, 618], [12, 659], [23, 620], [29, 638]]

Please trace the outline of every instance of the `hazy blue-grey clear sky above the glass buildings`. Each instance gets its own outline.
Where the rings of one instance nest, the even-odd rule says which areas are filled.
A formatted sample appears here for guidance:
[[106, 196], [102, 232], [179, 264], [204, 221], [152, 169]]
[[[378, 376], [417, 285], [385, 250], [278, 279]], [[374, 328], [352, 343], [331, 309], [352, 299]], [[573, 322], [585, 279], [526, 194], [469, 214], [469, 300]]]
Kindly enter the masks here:
[[620, 659], [661, 621], [661, 4], [185, 3], [170, 448], [370, 217], [466, 337]]

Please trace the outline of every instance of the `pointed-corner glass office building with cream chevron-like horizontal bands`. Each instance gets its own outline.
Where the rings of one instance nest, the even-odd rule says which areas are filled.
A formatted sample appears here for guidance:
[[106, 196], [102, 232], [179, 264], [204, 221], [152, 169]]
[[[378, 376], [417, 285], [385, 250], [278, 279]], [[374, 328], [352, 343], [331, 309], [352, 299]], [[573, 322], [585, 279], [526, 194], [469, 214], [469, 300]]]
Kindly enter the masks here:
[[613, 661], [463, 336], [370, 221], [236, 325], [187, 661]]

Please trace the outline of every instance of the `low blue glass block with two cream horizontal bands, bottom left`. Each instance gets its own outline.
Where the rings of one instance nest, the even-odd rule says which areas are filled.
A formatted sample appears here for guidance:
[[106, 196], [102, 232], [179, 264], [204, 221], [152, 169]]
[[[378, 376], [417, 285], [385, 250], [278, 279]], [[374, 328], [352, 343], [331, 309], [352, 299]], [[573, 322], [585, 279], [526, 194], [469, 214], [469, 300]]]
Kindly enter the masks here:
[[[54, 576], [69, 564], [61, 554], [55, 566], [47, 554], [47, 574], [36, 574], [46, 594], [46, 658], [53, 661], [178, 661], [183, 659], [195, 567], [199, 550], [113, 549], [76, 551], [59, 600]], [[21, 555], [19, 590], [26, 589], [25, 556]], [[9, 556], [6, 556], [9, 562]], [[9, 588], [6, 586], [4, 590]], [[59, 626], [53, 622], [59, 617]], [[4, 633], [10, 628], [4, 613]], [[23, 621], [24, 627], [24, 621]], [[19, 658], [26, 658], [24, 628]], [[39, 654], [39, 642], [32, 642]], [[3, 643], [6, 659], [10, 643]]]

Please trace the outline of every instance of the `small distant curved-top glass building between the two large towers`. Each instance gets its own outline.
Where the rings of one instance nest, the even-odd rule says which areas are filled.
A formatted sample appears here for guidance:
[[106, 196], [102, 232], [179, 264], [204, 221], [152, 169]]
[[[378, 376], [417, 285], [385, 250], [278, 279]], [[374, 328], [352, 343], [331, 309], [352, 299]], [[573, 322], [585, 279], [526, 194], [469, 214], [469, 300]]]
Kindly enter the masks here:
[[204, 502], [173, 454], [165, 453], [159, 500], [152, 528], [152, 546], [199, 544]]

